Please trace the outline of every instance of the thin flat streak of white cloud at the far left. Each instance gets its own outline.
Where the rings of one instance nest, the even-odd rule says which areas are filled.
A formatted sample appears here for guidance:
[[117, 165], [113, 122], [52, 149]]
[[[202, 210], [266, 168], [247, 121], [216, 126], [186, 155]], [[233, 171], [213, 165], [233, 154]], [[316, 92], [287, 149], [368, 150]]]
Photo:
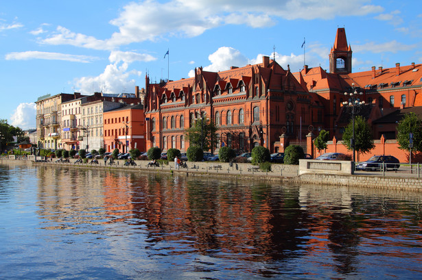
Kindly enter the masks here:
[[88, 55], [69, 55], [67, 53], [47, 53], [43, 51], [23, 51], [21, 53], [8, 53], [5, 60], [65, 60], [70, 62], [89, 63], [97, 58]]

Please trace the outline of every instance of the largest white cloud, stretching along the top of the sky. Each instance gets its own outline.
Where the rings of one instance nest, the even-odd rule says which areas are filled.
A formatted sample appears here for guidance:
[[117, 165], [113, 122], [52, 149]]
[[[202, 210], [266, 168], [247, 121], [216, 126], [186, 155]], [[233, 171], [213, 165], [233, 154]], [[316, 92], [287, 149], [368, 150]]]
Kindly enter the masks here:
[[[366, 16], [382, 12], [379, 5], [368, 5], [370, 0], [171, 0], [161, 3], [144, 0], [129, 3], [111, 25], [119, 28], [106, 40], [76, 34], [58, 27], [41, 42], [71, 44], [73, 46], [113, 50], [121, 45], [145, 40], [161, 40], [165, 36], [194, 37], [208, 29], [222, 25], [268, 27], [278, 18], [312, 20], [336, 16]], [[159, 16], [157, 16], [159, 15]]]

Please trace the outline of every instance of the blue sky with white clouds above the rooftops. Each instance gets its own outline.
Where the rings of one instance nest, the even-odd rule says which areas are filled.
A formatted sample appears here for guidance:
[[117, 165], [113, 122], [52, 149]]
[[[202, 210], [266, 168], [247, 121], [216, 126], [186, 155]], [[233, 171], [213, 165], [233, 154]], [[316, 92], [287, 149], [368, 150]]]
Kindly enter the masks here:
[[[60, 92], [134, 92], [195, 67], [224, 71], [273, 57], [293, 72], [329, 68], [338, 27], [353, 72], [422, 60], [420, 1], [1, 1], [0, 118], [35, 127], [35, 101]], [[305, 38], [305, 48], [301, 48]], [[164, 55], [169, 50], [169, 60]], [[169, 62], [169, 68], [167, 68]]]

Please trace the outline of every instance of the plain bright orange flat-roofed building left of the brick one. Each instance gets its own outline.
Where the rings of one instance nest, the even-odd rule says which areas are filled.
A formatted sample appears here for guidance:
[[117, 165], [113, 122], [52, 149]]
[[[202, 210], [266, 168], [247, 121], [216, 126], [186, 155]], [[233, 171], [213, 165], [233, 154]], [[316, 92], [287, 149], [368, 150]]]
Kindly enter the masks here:
[[130, 149], [145, 151], [145, 130], [143, 105], [128, 105], [104, 112], [104, 147], [111, 152], [121, 153]]

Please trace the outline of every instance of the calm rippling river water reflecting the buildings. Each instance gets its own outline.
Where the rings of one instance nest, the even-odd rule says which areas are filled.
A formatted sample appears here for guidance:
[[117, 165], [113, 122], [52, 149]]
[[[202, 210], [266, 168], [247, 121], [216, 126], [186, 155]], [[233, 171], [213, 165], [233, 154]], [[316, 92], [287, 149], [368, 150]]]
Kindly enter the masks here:
[[0, 279], [421, 279], [422, 194], [0, 166]]

